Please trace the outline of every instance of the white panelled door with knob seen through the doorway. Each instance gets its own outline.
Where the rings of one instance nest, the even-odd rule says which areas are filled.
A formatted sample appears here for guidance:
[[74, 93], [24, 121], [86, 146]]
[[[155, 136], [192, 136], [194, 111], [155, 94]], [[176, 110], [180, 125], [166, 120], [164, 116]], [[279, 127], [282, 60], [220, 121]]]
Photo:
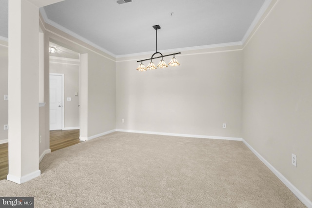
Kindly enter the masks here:
[[62, 83], [61, 75], [50, 75], [50, 130], [62, 129]]

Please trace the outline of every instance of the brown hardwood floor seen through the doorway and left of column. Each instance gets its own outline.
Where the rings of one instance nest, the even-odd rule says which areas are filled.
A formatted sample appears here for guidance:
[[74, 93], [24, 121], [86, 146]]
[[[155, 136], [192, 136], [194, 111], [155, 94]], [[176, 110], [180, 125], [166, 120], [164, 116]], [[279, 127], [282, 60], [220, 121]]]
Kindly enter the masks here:
[[[59, 149], [78, 144], [79, 130], [50, 131], [50, 149]], [[8, 169], [8, 143], [0, 144], [0, 180], [6, 179]]]

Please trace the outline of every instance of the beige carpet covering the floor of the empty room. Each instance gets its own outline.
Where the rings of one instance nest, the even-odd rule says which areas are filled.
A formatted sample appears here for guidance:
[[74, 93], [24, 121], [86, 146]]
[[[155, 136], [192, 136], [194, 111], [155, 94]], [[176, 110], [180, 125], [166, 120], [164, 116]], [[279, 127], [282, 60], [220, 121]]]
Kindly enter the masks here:
[[36, 208], [303, 208], [242, 142], [114, 132], [47, 154], [0, 196]]

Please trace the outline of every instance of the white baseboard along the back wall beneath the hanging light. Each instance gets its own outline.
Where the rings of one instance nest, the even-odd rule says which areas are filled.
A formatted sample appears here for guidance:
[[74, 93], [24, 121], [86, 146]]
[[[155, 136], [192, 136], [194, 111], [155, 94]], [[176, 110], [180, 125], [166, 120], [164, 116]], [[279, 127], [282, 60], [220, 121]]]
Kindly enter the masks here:
[[204, 138], [204, 139], [223, 139], [223, 140], [242, 141], [242, 138], [238, 138], [238, 137], [208, 136], [208, 135], [166, 133], [166, 132], [146, 132], [146, 131], [136, 131], [136, 130], [123, 130], [123, 129], [116, 129], [116, 132], [146, 133], [146, 134], [156, 134], [156, 135], [165, 135], [165, 136], [180, 136], [180, 137], [193, 137], [193, 138]]

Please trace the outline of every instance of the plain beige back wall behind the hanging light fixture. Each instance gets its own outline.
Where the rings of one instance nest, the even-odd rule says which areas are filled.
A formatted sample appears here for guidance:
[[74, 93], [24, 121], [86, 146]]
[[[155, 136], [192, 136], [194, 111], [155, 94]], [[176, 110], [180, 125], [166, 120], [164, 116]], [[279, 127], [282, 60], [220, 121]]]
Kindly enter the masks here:
[[176, 58], [180, 66], [145, 72], [133, 57], [117, 61], [116, 128], [241, 137], [242, 51], [184, 51]]

